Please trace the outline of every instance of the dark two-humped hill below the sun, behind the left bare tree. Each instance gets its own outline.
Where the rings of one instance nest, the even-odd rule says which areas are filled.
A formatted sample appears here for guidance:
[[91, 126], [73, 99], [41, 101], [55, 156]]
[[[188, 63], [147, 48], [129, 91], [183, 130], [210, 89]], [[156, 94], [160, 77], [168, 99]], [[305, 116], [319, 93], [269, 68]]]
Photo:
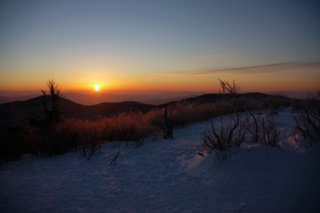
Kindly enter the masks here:
[[[32, 98], [26, 101], [14, 101], [0, 104], [0, 128], [9, 126], [27, 125], [30, 118], [39, 118], [44, 115], [41, 104], [42, 97]], [[50, 98], [49, 98], [50, 99]], [[50, 100], [48, 99], [48, 104]], [[76, 117], [79, 119], [93, 119], [97, 115], [112, 116], [120, 112], [141, 111], [146, 112], [155, 107], [154, 105], [139, 102], [115, 102], [100, 103], [92, 106], [85, 106], [72, 102], [68, 99], [61, 98], [62, 117]]]

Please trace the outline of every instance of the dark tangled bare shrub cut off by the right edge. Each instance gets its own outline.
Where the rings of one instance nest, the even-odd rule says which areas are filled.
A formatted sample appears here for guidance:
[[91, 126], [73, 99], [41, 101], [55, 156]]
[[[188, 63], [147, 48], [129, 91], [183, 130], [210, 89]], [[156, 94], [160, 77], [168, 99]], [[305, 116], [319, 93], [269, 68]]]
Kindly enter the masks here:
[[308, 94], [307, 98], [300, 103], [298, 116], [294, 116], [296, 126], [292, 127], [292, 139], [298, 141], [297, 135], [301, 135], [305, 142], [303, 145], [312, 147], [320, 139], [320, 90], [313, 96]]

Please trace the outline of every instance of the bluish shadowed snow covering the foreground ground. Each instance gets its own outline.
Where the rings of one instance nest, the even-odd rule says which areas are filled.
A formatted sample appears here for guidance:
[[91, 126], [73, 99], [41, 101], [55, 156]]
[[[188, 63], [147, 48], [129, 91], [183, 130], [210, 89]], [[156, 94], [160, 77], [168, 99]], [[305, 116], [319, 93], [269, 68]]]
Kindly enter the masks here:
[[[68, 153], [2, 165], [1, 212], [320, 212], [320, 144], [291, 140], [290, 108], [278, 111], [281, 147], [244, 144], [224, 161], [201, 157], [208, 122], [139, 148], [105, 144], [92, 158]], [[212, 120], [218, 124], [219, 119]], [[152, 139], [152, 138], [151, 138]]]

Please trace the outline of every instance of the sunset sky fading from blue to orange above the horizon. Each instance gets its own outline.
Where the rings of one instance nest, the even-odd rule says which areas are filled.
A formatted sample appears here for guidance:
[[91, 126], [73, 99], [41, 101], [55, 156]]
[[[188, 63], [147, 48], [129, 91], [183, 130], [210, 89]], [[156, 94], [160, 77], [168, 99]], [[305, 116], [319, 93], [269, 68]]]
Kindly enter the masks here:
[[[315, 90], [319, 11], [317, 1], [1, 1], [0, 90], [52, 77], [65, 89], [210, 91], [220, 78], [248, 91]], [[228, 71], [266, 64], [277, 71]], [[181, 74], [190, 70], [220, 71]]]

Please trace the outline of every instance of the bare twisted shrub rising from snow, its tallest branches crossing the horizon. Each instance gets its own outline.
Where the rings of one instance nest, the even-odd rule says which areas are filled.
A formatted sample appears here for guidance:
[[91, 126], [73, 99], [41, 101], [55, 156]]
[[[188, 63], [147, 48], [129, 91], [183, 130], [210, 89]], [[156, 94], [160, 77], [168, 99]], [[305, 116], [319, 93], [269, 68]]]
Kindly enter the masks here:
[[[211, 121], [208, 132], [207, 128], [205, 129], [201, 137], [203, 152], [214, 151], [219, 160], [224, 160], [231, 156], [232, 149], [239, 149], [244, 141], [279, 146], [280, 132], [273, 120], [273, 115], [271, 113], [262, 115], [261, 108], [252, 110], [237, 102], [240, 87], [235, 85], [235, 81], [233, 84], [219, 81], [222, 87], [220, 91], [222, 100], [218, 102], [220, 124], [215, 127]], [[227, 113], [226, 108], [223, 107], [224, 104], [228, 105]], [[245, 113], [241, 116], [240, 112], [243, 109]]]

